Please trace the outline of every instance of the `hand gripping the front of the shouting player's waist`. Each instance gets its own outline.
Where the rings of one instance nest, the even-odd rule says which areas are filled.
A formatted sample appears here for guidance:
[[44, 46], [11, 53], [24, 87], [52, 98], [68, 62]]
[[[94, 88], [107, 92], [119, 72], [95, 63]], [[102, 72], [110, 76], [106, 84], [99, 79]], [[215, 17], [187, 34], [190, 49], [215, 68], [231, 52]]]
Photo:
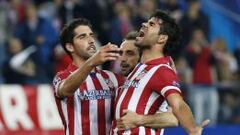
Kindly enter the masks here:
[[119, 130], [127, 130], [138, 127], [138, 123], [141, 121], [141, 115], [130, 110], [123, 110], [124, 116], [117, 119], [117, 128]]

